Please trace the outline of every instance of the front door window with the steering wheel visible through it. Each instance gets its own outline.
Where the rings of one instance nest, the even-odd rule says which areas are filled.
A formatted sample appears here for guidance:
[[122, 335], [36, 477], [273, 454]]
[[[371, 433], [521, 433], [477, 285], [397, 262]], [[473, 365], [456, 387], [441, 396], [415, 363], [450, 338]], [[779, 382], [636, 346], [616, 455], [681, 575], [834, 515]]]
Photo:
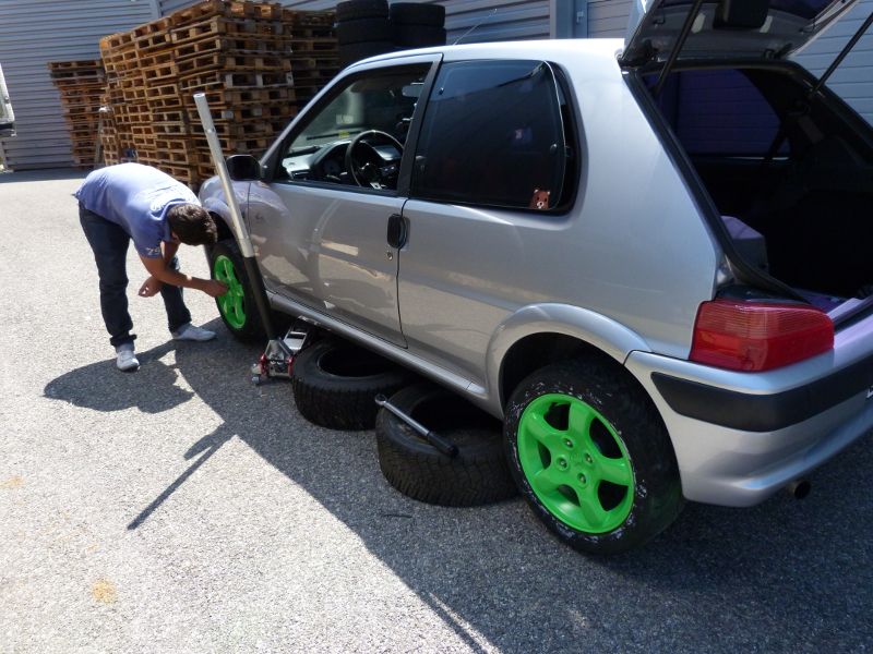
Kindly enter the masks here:
[[276, 180], [395, 190], [429, 69], [416, 64], [349, 78], [289, 135]]

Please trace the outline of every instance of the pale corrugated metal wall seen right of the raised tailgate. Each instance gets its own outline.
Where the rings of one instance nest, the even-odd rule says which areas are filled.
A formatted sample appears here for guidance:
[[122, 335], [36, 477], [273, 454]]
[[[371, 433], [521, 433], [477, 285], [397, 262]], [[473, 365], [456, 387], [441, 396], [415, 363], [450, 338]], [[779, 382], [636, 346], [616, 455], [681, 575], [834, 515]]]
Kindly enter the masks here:
[[[797, 60], [821, 75], [873, 11], [873, 0], [861, 0]], [[868, 29], [842, 61], [827, 85], [873, 124], [873, 27]]]

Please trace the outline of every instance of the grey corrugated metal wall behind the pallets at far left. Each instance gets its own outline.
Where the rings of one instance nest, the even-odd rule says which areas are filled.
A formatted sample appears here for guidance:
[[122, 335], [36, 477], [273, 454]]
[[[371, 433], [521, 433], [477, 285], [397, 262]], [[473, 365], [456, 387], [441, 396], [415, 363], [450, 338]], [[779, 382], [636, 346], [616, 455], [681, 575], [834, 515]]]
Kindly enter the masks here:
[[0, 63], [17, 136], [2, 142], [12, 169], [72, 165], [58, 90], [46, 63], [97, 59], [101, 36], [156, 16], [152, 0], [0, 0]]

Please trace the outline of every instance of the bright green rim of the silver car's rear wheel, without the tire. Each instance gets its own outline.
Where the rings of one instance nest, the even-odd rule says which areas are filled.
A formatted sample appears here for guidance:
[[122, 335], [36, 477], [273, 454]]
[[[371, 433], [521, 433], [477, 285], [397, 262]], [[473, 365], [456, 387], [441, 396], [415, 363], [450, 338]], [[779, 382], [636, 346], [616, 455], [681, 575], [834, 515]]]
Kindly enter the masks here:
[[602, 534], [631, 513], [627, 449], [609, 421], [577, 398], [549, 393], [527, 405], [518, 423], [518, 460], [549, 512], [575, 530]]

